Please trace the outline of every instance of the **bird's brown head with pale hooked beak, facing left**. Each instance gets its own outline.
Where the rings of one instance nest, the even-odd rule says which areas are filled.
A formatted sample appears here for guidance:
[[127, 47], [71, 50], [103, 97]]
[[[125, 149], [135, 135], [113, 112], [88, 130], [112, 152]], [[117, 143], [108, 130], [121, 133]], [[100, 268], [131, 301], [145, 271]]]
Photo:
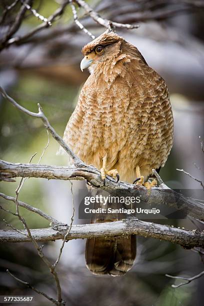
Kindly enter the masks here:
[[80, 62], [80, 68], [94, 70], [98, 63], [106, 62], [120, 51], [120, 43], [124, 39], [113, 32], [105, 31], [100, 36], [84, 45], [82, 53], [84, 55]]

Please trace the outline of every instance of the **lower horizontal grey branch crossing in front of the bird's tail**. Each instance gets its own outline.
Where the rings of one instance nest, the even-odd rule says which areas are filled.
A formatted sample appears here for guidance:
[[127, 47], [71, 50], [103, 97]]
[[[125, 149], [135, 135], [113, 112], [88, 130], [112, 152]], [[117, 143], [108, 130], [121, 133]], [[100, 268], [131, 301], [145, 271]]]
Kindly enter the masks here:
[[[30, 229], [35, 241], [53, 241], [63, 239], [67, 229], [53, 228]], [[144, 237], [157, 238], [179, 244], [185, 248], [204, 246], [204, 232], [190, 231], [167, 225], [141, 221], [136, 218], [126, 220], [72, 225], [66, 239], [83, 239], [93, 237], [111, 237], [117, 235], [137, 234]], [[14, 230], [0, 230], [0, 242], [29, 242], [29, 237]]]

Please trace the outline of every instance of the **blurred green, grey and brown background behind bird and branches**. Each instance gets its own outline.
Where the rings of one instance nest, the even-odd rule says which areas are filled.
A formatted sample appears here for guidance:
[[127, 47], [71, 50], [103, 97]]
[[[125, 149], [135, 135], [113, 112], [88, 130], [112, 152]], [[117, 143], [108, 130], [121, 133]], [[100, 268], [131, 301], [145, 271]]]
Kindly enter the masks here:
[[[0, 39], [13, 24], [21, 2], [3, 17], [6, 5], [14, 0], [0, 1]], [[48, 17], [61, 0], [30, 1], [43, 16]], [[122, 35], [140, 50], [147, 63], [166, 80], [173, 109], [174, 143], [160, 176], [172, 188], [197, 189], [200, 184], [176, 168], [184, 169], [198, 179], [203, 179], [203, 153], [199, 136], [203, 138], [204, 99], [204, 1], [195, 0], [92, 0], [87, 1], [102, 16], [124, 23], [138, 23], [138, 29], [120, 28]], [[97, 36], [105, 29], [77, 8], [80, 21]], [[40, 24], [27, 10], [18, 31], [21, 36]], [[20, 44], [11, 44], [0, 52], [0, 85], [21, 105], [37, 111], [36, 103], [57, 133], [63, 134], [65, 124], [77, 102], [80, 87], [88, 72], [80, 71], [81, 48], [90, 41], [73, 22], [71, 8], [67, 5], [50, 28], [44, 28]], [[12, 162], [38, 162], [47, 143], [47, 133], [40, 120], [15, 109], [0, 96], [0, 158]], [[58, 144], [51, 136], [41, 163], [65, 165], [66, 156], [58, 156]], [[195, 164], [194, 164], [195, 163]], [[199, 169], [201, 168], [201, 169]], [[14, 196], [19, 183], [0, 182], [2, 192]], [[73, 182], [74, 202], [77, 207], [78, 188]], [[56, 219], [69, 222], [71, 208], [70, 183], [62, 180], [29, 178], [20, 191], [19, 199], [39, 207]], [[0, 205], [13, 209], [13, 203], [0, 198]], [[30, 228], [49, 224], [38, 215], [21, 208], [20, 212]], [[0, 211], [0, 228], [5, 228], [3, 218], [16, 228], [21, 224], [14, 216]], [[82, 220], [74, 217], [74, 223]], [[175, 226], [195, 228], [188, 219], [160, 220]], [[65, 244], [58, 272], [63, 297], [67, 305], [127, 305], [127, 306], [177, 306], [203, 305], [204, 277], [173, 289], [171, 279], [164, 274], [192, 276], [203, 270], [198, 253], [184, 250], [178, 245], [151, 238], [138, 237], [137, 257], [131, 271], [113, 278], [92, 275], [85, 267], [85, 241], [77, 239]], [[44, 244], [44, 253], [54, 260], [60, 241]], [[0, 294], [35, 296], [33, 305], [51, 302], [17, 283], [5, 270], [30, 282], [38, 289], [55, 296], [55, 287], [46, 266], [30, 243], [4, 243], [0, 246]]]

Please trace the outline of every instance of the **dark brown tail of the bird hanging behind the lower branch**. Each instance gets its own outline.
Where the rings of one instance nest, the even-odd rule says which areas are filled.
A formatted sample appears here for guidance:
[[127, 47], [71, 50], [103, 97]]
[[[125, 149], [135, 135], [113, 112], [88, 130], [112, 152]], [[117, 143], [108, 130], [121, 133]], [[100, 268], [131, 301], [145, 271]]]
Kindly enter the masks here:
[[[118, 217], [117, 214], [94, 214], [91, 223], [115, 221], [118, 219], [121, 219], [121, 217]], [[131, 269], [135, 256], [136, 235], [99, 237], [86, 240], [86, 266], [94, 274], [123, 275]]]

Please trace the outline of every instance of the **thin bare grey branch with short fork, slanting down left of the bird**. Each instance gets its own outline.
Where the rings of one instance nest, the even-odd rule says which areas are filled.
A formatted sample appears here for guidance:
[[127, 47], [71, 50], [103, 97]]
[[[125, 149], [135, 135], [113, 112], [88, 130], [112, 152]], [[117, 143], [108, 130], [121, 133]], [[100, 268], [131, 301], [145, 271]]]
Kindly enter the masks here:
[[83, 162], [78, 158], [74, 152], [71, 150], [71, 148], [68, 147], [68, 145], [63, 141], [63, 139], [55, 132], [54, 128], [50, 125], [47, 117], [45, 117], [42, 107], [39, 103], [38, 105], [38, 112], [32, 112], [24, 108], [23, 106], [19, 105], [13, 98], [11, 98], [5, 90], [0, 86], [0, 93], [4, 98], [6, 98], [13, 106], [18, 108], [20, 111], [28, 114], [29, 116], [40, 118], [45, 126], [46, 129], [51, 133], [52, 137], [63, 147], [63, 149], [67, 152], [67, 154], [73, 159], [75, 163], [83, 164]]

